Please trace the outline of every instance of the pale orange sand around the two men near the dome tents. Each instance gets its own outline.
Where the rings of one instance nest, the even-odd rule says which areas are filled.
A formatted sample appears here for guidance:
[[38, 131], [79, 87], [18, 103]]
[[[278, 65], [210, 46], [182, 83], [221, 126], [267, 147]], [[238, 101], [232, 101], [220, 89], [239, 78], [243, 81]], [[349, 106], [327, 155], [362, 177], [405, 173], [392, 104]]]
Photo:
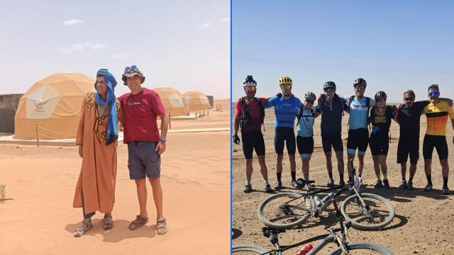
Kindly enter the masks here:
[[[178, 120], [172, 128], [199, 123], [228, 127], [230, 113]], [[229, 132], [170, 133], [162, 155], [164, 213], [169, 232], [155, 230], [155, 205], [148, 184], [150, 222], [128, 230], [138, 214], [135, 183], [129, 180], [126, 146], [118, 147], [114, 229], [102, 229], [101, 213], [80, 238], [72, 233], [82, 209], [72, 208], [82, 159], [77, 147], [0, 145], [0, 254], [229, 254]], [[210, 141], [210, 142], [206, 142]]]

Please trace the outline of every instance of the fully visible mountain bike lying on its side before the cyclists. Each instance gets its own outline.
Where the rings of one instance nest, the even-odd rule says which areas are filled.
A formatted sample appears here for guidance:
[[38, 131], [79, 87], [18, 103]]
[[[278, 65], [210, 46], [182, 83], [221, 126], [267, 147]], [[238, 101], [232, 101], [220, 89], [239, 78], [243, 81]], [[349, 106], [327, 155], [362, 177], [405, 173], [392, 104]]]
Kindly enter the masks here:
[[[375, 230], [388, 225], [394, 218], [394, 205], [382, 196], [360, 193], [360, 177], [355, 175], [352, 160], [349, 164], [352, 169], [352, 178], [345, 185], [310, 191], [309, 184], [314, 181], [299, 179], [303, 186], [306, 186], [307, 193], [277, 193], [266, 198], [258, 208], [259, 220], [267, 227], [274, 229], [296, 227], [309, 217], [319, 217], [321, 212], [331, 204], [331, 198], [350, 191], [351, 196], [343, 201], [341, 212], [354, 228]], [[335, 190], [338, 191], [328, 193], [323, 199], [316, 196], [317, 193]]]

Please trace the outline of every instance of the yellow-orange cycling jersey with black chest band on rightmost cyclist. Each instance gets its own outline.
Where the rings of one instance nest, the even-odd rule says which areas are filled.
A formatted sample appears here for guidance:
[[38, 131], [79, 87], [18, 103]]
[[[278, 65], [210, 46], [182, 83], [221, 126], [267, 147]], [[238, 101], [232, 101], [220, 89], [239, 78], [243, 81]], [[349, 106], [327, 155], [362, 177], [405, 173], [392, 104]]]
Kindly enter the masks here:
[[426, 135], [446, 135], [446, 122], [448, 116], [451, 120], [454, 119], [453, 108], [448, 105], [448, 102], [440, 101], [439, 103], [429, 103], [423, 108], [422, 114], [427, 117]]

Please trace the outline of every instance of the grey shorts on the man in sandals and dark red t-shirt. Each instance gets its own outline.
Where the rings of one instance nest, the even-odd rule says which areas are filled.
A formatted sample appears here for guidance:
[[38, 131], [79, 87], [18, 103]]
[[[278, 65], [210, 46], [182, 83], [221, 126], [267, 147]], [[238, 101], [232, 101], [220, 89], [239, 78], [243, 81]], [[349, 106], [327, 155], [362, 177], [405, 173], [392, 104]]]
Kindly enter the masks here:
[[155, 152], [157, 142], [128, 142], [129, 179], [160, 178], [161, 157]]

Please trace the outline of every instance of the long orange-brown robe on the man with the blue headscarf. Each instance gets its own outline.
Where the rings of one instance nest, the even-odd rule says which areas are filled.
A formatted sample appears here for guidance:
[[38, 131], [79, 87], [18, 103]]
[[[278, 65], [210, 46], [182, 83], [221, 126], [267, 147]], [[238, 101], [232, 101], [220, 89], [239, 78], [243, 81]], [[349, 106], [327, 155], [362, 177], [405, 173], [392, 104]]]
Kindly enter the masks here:
[[[118, 120], [121, 120], [121, 104], [116, 100]], [[96, 111], [94, 95], [82, 103], [76, 145], [83, 145], [82, 167], [74, 193], [74, 208], [82, 207], [84, 193], [85, 213], [111, 212], [114, 208], [116, 181], [117, 141], [106, 145], [106, 126], [109, 106], [103, 115]], [[118, 125], [119, 129], [119, 125]]]

